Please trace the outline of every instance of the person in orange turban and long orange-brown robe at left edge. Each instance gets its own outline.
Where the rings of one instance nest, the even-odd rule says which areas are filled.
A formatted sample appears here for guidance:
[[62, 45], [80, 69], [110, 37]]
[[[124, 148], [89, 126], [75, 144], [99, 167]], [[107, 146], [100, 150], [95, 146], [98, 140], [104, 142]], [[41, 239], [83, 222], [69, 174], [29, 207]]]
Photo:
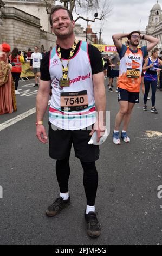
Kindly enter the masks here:
[[[8, 64], [9, 53], [10, 46], [8, 44], [3, 43], [0, 45], [0, 62]], [[11, 75], [11, 70], [9, 69], [7, 82], [0, 86], [0, 115], [5, 113], [12, 113], [16, 110], [15, 87]]]

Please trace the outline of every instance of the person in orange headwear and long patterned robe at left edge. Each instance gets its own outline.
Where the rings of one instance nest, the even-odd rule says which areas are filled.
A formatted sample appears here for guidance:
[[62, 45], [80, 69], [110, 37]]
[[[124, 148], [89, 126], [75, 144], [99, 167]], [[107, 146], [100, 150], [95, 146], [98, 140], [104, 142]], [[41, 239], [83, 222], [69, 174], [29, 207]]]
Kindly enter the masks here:
[[0, 45], [0, 115], [16, 111], [15, 87], [8, 64], [10, 45]]

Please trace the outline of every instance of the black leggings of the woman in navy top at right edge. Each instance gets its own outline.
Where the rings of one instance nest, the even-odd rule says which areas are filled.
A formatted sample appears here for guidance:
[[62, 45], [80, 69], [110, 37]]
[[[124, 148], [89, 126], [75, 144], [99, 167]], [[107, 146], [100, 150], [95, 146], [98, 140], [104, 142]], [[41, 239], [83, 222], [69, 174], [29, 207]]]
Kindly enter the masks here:
[[151, 101], [152, 101], [152, 107], [154, 107], [155, 99], [156, 99], [155, 95], [156, 95], [156, 91], [157, 91], [157, 80], [149, 81], [149, 80], [144, 79], [144, 84], [145, 84], [144, 104], [146, 105], [146, 103], [147, 103], [147, 97], [148, 97], [148, 93], [149, 93], [150, 85], [151, 85], [151, 90], [152, 90]]

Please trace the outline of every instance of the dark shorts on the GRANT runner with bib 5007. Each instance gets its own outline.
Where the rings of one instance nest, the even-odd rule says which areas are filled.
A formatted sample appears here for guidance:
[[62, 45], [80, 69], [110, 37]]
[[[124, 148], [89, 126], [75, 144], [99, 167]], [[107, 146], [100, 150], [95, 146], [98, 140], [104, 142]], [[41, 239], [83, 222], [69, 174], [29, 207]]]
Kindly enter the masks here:
[[139, 103], [139, 93], [129, 92], [118, 87], [118, 101], [128, 101], [130, 103]]

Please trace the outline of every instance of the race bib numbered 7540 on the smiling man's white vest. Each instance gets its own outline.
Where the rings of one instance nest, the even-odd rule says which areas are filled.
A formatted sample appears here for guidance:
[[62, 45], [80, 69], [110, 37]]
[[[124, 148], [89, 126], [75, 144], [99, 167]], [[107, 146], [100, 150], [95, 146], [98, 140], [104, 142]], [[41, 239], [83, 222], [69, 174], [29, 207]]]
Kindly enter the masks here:
[[87, 90], [61, 93], [61, 110], [81, 111], [88, 107]]

